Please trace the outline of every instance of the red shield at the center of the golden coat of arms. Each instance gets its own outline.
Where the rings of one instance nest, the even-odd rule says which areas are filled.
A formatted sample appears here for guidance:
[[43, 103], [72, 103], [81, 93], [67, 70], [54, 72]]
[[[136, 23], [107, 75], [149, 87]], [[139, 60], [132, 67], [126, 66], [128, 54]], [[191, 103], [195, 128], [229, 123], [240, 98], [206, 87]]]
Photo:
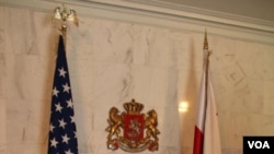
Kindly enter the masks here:
[[141, 140], [144, 138], [144, 115], [124, 115], [124, 138], [132, 141]]

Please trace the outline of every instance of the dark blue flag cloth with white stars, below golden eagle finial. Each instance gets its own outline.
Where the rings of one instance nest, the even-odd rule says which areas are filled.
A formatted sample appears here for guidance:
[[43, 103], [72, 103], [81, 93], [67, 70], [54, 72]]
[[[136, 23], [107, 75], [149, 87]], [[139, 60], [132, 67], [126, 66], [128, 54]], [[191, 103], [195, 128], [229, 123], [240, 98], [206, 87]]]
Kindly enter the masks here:
[[54, 75], [48, 154], [78, 154], [76, 122], [62, 37]]

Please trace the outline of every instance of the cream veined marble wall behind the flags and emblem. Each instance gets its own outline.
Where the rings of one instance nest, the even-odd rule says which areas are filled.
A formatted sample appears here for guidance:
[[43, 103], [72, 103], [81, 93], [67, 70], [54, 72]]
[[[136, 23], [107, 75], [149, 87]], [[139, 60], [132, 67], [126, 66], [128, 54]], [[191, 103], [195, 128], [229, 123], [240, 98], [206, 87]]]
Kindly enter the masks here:
[[[106, 119], [135, 98], [158, 112], [155, 154], [192, 154], [204, 34], [79, 17], [67, 58], [80, 153], [124, 154], [106, 149]], [[58, 32], [50, 13], [0, 7], [0, 154], [46, 154]], [[243, 135], [274, 134], [274, 46], [208, 42], [222, 153], [241, 154]]]

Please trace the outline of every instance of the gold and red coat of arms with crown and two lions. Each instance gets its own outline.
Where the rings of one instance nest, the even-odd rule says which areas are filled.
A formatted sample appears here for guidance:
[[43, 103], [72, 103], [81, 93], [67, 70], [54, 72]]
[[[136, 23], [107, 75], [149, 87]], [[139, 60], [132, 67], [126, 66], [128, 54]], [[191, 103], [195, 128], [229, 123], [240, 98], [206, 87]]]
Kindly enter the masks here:
[[[141, 114], [144, 105], [133, 99], [124, 104], [126, 110], [119, 114], [116, 107], [110, 109], [107, 149], [126, 152], [158, 151], [157, 112], [151, 109]], [[145, 135], [146, 134], [146, 135]]]

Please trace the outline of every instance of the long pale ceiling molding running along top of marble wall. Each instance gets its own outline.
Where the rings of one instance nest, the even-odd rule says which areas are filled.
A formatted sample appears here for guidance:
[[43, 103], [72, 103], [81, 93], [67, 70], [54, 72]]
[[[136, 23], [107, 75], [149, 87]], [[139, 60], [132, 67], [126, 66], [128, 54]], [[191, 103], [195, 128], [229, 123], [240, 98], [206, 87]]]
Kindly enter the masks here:
[[233, 37], [274, 45], [274, 23], [152, 0], [0, 0], [0, 4], [52, 12], [66, 3], [80, 16], [100, 17]]

